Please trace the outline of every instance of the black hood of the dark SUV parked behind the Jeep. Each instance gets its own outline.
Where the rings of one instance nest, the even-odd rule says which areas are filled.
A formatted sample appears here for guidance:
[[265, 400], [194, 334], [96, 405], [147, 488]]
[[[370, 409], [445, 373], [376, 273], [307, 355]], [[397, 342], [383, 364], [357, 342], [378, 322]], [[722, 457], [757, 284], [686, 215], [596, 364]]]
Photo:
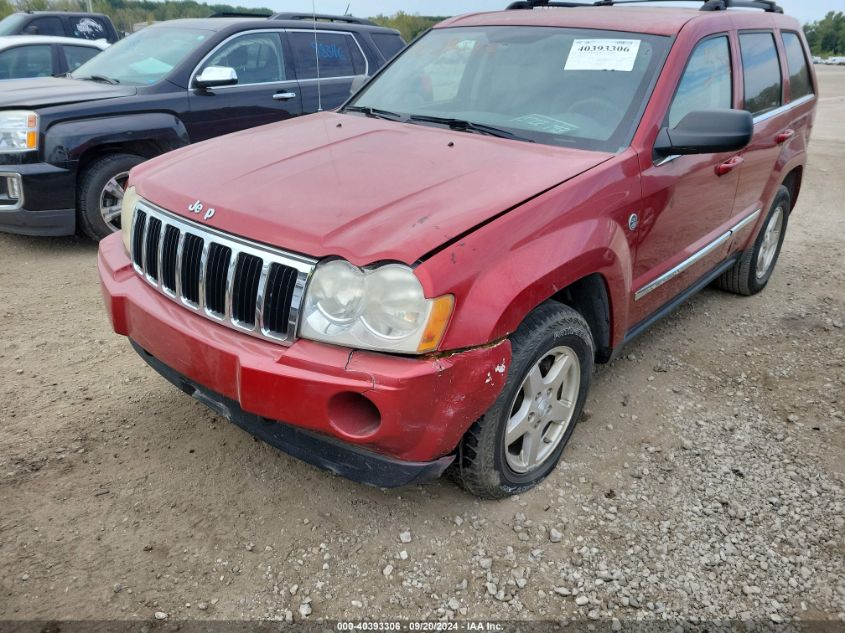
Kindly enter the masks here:
[[112, 86], [81, 79], [57, 77], [9, 79], [0, 82], [0, 108], [39, 108], [80, 101], [129, 97], [136, 92], [137, 89], [132, 86]]

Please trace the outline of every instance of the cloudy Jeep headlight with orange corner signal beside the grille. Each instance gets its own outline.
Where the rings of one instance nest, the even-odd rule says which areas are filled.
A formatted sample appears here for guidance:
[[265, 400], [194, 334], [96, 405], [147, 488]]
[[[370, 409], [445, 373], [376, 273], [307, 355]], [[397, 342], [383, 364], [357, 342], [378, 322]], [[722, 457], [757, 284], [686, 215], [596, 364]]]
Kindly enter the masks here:
[[362, 270], [343, 260], [320, 264], [305, 295], [300, 336], [360, 349], [423, 354], [437, 349], [454, 299], [426, 299], [401, 264]]

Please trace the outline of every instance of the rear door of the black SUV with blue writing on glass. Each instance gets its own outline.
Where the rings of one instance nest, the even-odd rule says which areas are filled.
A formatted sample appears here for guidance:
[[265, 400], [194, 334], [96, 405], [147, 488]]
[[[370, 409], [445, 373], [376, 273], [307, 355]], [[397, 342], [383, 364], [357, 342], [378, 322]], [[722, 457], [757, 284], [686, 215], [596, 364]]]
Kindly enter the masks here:
[[370, 72], [367, 58], [352, 33], [288, 30], [286, 36], [302, 90], [304, 113], [339, 107], [349, 98], [352, 80]]

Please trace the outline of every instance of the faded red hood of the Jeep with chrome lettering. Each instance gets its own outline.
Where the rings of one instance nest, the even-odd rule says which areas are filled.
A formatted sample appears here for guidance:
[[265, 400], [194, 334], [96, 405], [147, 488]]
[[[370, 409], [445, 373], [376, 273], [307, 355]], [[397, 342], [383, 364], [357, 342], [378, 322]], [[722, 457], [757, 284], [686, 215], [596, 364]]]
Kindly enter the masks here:
[[[323, 113], [171, 152], [131, 183], [162, 208], [259, 242], [412, 264], [610, 156]], [[212, 218], [188, 211], [197, 200]]]

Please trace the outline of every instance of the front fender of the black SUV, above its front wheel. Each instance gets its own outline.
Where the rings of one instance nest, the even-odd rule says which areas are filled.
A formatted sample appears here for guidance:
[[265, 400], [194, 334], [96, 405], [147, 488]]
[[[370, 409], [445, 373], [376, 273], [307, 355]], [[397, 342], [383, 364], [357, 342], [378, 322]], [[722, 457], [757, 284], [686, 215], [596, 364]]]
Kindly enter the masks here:
[[73, 163], [101, 145], [153, 143], [161, 153], [190, 143], [185, 125], [174, 114], [148, 112], [62, 121], [46, 130], [44, 156], [54, 165]]

